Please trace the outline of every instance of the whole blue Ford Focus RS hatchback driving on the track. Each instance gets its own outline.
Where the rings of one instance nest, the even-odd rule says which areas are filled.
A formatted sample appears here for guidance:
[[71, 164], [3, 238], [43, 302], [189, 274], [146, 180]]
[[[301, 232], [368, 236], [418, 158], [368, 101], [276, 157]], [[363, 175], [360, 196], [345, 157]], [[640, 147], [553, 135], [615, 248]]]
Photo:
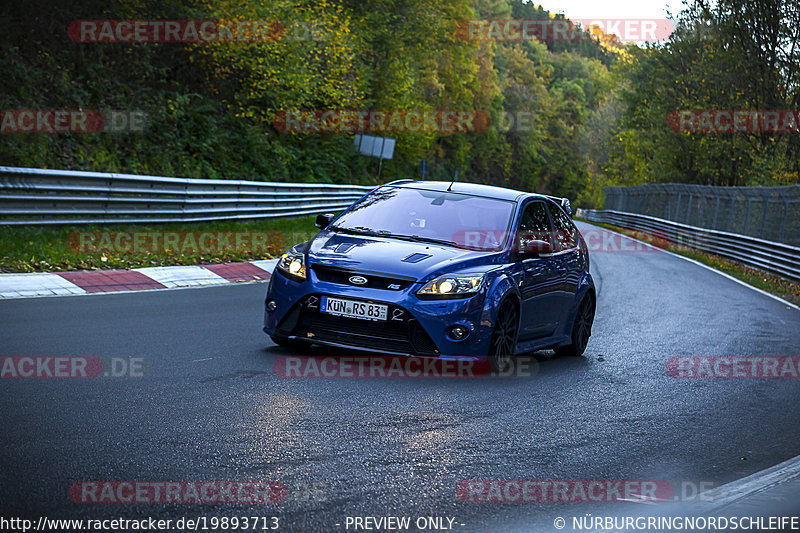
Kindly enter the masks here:
[[283, 254], [264, 331], [502, 370], [519, 353], [582, 355], [596, 293], [569, 202], [472, 183], [395, 181]]

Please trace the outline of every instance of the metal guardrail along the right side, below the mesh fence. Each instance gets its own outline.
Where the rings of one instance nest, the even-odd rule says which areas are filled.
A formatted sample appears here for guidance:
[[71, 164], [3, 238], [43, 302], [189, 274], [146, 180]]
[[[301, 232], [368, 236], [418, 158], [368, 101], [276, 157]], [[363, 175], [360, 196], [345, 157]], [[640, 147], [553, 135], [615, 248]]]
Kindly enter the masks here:
[[676, 244], [800, 281], [800, 248], [796, 246], [622, 211], [579, 209], [576, 216], [590, 222], [653, 234]]

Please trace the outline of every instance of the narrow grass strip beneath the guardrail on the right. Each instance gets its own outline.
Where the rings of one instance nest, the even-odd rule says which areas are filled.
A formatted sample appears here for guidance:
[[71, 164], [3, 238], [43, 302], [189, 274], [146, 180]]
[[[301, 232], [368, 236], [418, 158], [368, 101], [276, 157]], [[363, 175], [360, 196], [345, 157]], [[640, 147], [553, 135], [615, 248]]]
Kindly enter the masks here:
[[726, 274], [729, 274], [736, 279], [747, 283], [748, 285], [752, 285], [753, 287], [767, 291], [791, 303], [800, 304], [800, 283], [784, 279], [780, 276], [776, 276], [775, 274], [770, 274], [768, 272], [742, 265], [741, 263], [736, 263], [735, 261], [730, 261], [715, 254], [701, 252], [687, 246], [671, 243], [664, 239], [659, 239], [640, 231], [621, 228], [611, 224], [603, 224], [601, 222], [592, 222], [590, 220], [584, 220], [578, 217], [576, 217], [576, 220], [580, 220], [594, 226], [610, 229], [612, 231], [622, 233], [623, 235], [650, 243], [653, 246], [658, 246], [659, 248], [669, 250], [670, 252], [694, 259], [695, 261], [699, 261], [704, 265], [715, 268], [721, 272], [725, 272]]

